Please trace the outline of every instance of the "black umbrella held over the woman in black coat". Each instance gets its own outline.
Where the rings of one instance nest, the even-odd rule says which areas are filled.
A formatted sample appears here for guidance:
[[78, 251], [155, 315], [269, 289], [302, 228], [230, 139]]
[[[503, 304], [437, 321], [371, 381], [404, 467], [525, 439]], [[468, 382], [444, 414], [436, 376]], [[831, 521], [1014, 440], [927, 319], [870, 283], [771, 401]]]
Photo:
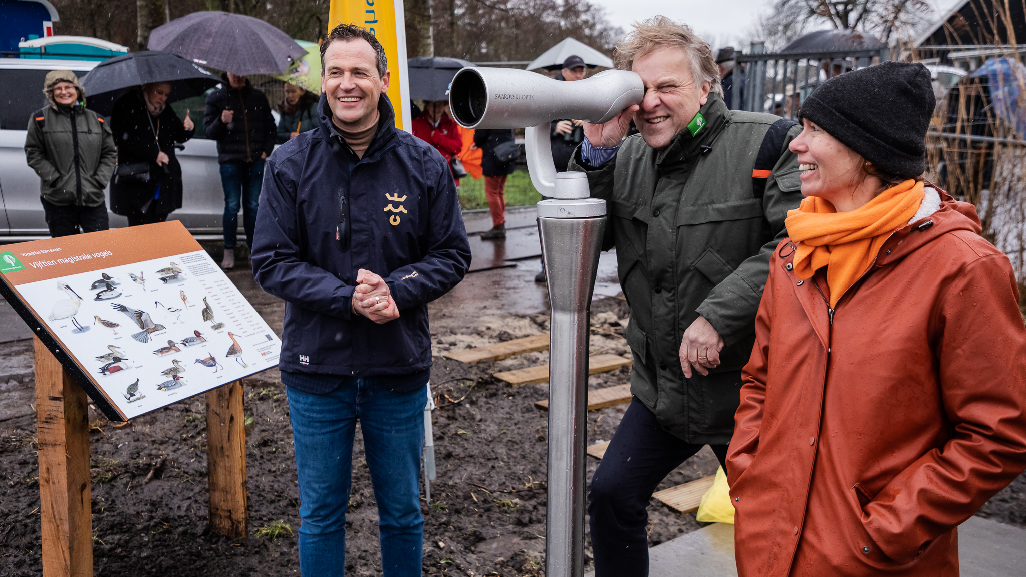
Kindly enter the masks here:
[[167, 103], [202, 94], [221, 82], [210, 71], [182, 56], [158, 50], [128, 52], [108, 59], [82, 77], [89, 109], [110, 116], [114, 102], [134, 87], [150, 82], [170, 82]]

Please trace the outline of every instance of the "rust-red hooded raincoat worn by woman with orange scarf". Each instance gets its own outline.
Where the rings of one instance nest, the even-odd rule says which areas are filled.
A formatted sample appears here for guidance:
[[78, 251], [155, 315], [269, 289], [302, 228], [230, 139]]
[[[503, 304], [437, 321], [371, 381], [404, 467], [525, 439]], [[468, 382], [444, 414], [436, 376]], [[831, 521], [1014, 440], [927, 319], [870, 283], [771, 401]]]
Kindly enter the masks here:
[[774, 253], [727, 455], [742, 577], [958, 575], [955, 528], [1026, 468], [1016, 277], [941, 196], [833, 311]]

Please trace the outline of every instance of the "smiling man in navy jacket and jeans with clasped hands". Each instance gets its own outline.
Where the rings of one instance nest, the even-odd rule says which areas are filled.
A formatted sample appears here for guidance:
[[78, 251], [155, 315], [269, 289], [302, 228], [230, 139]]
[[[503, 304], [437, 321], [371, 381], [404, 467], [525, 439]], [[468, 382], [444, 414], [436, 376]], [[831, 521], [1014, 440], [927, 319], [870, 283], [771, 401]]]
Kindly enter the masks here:
[[427, 303], [463, 279], [470, 247], [445, 159], [394, 126], [378, 40], [340, 25], [320, 50], [321, 125], [268, 159], [252, 253], [256, 281], [286, 301], [300, 568], [343, 575], [359, 421], [384, 574], [421, 575]]

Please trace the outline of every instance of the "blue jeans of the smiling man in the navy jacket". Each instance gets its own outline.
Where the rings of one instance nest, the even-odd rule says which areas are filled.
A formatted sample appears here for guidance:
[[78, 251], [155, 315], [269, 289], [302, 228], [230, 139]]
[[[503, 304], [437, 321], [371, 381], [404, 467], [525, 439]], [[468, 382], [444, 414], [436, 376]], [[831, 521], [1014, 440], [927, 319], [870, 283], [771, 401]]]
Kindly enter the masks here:
[[356, 422], [378, 502], [385, 577], [423, 573], [421, 450], [427, 391], [395, 393], [357, 377], [327, 394], [288, 387], [288, 413], [300, 478], [300, 574], [343, 576], [346, 510], [352, 486]]

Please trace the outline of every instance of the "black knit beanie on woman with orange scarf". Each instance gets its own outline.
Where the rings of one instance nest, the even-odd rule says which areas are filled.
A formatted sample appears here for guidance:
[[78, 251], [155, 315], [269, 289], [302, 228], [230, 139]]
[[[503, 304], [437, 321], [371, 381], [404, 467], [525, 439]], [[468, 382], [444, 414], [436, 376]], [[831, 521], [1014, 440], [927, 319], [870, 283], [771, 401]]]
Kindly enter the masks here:
[[925, 170], [926, 128], [934, 114], [930, 70], [885, 62], [839, 74], [805, 98], [798, 111], [878, 169], [910, 179]]

